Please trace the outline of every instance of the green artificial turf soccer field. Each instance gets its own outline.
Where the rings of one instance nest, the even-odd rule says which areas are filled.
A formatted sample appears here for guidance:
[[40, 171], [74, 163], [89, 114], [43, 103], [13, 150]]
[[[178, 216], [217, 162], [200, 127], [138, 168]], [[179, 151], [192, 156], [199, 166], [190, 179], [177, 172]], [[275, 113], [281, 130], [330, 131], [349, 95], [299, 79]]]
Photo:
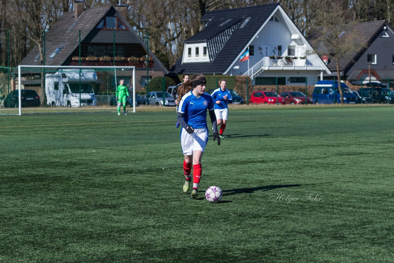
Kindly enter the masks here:
[[197, 200], [174, 108], [0, 116], [0, 261], [392, 261], [393, 110], [232, 107]]

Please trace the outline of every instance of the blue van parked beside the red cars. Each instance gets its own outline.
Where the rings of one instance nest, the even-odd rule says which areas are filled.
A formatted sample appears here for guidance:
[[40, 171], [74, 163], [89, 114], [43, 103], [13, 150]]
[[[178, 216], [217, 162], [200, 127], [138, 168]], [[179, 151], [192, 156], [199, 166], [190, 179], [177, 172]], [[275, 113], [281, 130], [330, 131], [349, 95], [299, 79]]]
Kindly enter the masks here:
[[[334, 81], [333, 80], [319, 80], [315, 85], [313, 91], [312, 100], [314, 104], [332, 104], [340, 103], [341, 95], [338, 90], [338, 81], [335, 81], [335, 91], [334, 91]], [[351, 92], [345, 83], [341, 82], [341, 89], [344, 95], [344, 103], [355, 104], [357, 96]], [[335, 95], [335, 99], [334, 99]]]

